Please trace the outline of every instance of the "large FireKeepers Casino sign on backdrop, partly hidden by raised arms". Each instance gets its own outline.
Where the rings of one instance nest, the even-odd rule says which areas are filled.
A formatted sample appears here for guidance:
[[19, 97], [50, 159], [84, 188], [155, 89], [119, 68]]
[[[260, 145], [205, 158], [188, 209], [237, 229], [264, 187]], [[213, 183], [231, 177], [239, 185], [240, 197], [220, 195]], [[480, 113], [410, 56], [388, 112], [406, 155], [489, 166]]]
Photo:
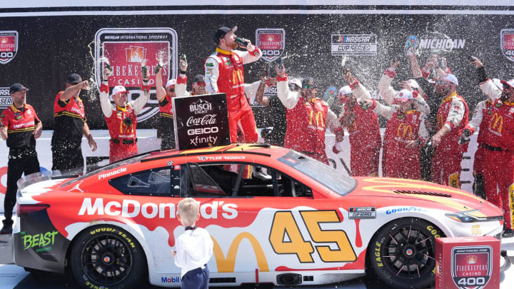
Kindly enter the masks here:
[[[95, 77], [100, 83], [102, 71], [112, 70], [109, 88], [125, 86], [128, 101], [141, 94], [141, 67], [147, 66], [151, 76], [148, 85], [155, 91], [155, 68], [162, 66], [162, 81], [176, 77], [177, 35], [171, 28], [104, 28], [95, 36]], [[146, 121], [158, 113], [158, 101], [151, 98], [138, 122]]]

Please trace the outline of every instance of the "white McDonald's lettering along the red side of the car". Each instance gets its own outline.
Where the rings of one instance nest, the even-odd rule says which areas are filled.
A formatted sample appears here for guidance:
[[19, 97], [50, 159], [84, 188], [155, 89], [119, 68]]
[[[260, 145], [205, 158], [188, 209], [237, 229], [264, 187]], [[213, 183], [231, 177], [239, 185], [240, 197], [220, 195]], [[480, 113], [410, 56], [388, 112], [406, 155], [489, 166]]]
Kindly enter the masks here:
[[[200, 206], [202, 218], [217, 219], [218, 215], [222, 218], [233, 219], [238, 216], [237, 205], [225, 203], [224, 201], [214, 201], [204, 203]], [[169, 215], [166, 216], [166, 210]], [[144, 218], [176, 218], [176, 208], [174, 203], [143, 203], [136, 200], [109, 201], [104, 204], [104, 198], [84, 198], [79, 216], [122, 216], [136, 218], [139, 215]]]

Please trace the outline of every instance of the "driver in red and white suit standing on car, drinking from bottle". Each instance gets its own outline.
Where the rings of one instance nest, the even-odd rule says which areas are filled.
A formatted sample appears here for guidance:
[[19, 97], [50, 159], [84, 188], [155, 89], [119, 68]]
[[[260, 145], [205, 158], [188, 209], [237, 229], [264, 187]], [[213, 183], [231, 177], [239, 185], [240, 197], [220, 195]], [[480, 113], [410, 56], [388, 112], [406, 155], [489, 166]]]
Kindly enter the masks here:
[[[243, 64], [249, 64], [261, 58], [261, 50], [243, 39], [247, 46], [236, 44], [237, 26], [233, 29], [220, 27], [214, 34], [216, 52], [205, 61], [205, 81], [207, 93], [226, 93], [228, 106], [228, 126], [231, 142], [237, 140], [237, 126], [241, 122], [245, 141], [255, 143], [258, 133], [255, 118], [245, 96]], [[234, 50], [237, 47], [247, 51]]]

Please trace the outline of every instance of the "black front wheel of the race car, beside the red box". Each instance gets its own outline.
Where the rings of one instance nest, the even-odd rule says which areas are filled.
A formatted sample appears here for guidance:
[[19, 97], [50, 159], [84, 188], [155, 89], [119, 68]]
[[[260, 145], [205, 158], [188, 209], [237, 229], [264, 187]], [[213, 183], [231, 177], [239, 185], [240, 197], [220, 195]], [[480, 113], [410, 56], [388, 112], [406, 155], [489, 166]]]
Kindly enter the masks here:
[[425, 288], [435, 280], [435, 225], [401, 218], [384, 225], [371, 240], [369, 258], [381, 280], [393, 288]]

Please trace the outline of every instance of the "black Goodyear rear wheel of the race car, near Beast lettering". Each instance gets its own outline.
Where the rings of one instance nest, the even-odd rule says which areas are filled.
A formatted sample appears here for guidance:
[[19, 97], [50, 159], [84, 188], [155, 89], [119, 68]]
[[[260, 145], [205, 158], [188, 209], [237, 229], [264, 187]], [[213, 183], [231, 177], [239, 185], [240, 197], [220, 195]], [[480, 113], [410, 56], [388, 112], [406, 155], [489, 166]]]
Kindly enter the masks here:
[[141, 245], [129, 232], [114, 225], [82, 232], [71, 248], [70, 264], [76, 282], [83, 288], [136, 288], [146, 275]]

